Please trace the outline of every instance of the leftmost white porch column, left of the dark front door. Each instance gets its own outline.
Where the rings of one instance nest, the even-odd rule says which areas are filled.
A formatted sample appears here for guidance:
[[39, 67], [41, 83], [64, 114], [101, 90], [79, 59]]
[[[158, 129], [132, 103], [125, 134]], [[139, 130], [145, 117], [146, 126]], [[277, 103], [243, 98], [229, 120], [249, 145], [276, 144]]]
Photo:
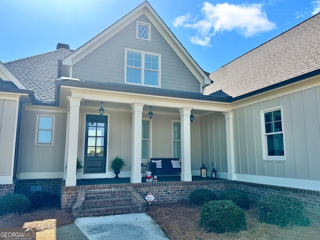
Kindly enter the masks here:
[[82, 98], [67, 96], [69, 100], [69, 128], [67, 129], [67, 159], [65, 186], [76, 185], [76, 157], [78, 147], [79, 108]]

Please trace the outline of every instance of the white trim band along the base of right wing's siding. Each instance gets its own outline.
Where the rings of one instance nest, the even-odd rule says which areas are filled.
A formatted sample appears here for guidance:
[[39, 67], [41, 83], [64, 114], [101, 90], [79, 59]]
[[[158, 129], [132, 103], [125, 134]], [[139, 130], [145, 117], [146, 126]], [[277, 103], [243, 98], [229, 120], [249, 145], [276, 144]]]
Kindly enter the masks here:
[[292, 187], [320, 191], [320, 180], [298, 179], [289, 177], [261, 176], [235, 173], [236, 181], [245, 181], [274, 186]]

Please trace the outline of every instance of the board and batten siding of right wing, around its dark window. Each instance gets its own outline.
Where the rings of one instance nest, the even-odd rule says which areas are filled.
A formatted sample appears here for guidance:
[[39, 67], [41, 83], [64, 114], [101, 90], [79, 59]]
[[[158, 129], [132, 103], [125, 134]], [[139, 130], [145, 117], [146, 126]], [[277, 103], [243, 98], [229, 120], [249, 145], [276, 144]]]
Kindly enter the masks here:
[[[319, 92], [315, 86], [233, 109], [235, 173], [320, 180]], [[278, 106], [285, 159], [263, 160], [260, 111]]]

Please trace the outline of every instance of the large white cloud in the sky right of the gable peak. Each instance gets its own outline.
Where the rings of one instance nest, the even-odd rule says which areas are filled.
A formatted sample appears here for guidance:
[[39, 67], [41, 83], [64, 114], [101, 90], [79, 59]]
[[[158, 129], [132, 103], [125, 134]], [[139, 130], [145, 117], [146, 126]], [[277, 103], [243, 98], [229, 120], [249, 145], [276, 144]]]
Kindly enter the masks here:
[[262, 4], [234, 5], [225, 2], [213, 5], [204, 2], [201, 18], [192, 19], [188, 13], [175, 17], [173, 25], [196, 30], [196, 34], [189, 39], [201, 46], [210, 46], [211, 37], [218, 32], [236, 31], [244, 37], [250, 37], [275, 28], [275, 23], [269, 21], [262, 11]]

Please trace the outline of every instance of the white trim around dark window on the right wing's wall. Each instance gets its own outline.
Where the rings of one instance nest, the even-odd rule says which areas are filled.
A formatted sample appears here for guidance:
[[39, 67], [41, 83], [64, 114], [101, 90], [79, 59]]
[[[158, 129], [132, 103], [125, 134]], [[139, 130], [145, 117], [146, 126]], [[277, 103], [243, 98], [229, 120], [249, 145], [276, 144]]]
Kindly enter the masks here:
[[[276, 111], [280, 110], [281, 112], [281, 128], [282, 131], [279, 131], [275, 134], [280, 134], [282, 133], [283, 137], [283, 151], [284, 155], [283, 156], [268, 156], [267, 154], [267, 141], [266, 141], [266, 136], [269, 135], [268, 133], [265, 133], [265, 126], [264, 126], [264, 113], [265, 112], [270, 112], [270, 111]], [[263, 160], [285, 160], [285, 141], [284, 141], [284, 124], [283, 124], [283, 111], [282, 111], [282, 106], [277, 106], [277, 107], [272, 107], [268, 109], [264, 109], [260, 111], [260, 122], [261, 122], [261, 140], [262, 140], [262, 155], [263, 155]]]

